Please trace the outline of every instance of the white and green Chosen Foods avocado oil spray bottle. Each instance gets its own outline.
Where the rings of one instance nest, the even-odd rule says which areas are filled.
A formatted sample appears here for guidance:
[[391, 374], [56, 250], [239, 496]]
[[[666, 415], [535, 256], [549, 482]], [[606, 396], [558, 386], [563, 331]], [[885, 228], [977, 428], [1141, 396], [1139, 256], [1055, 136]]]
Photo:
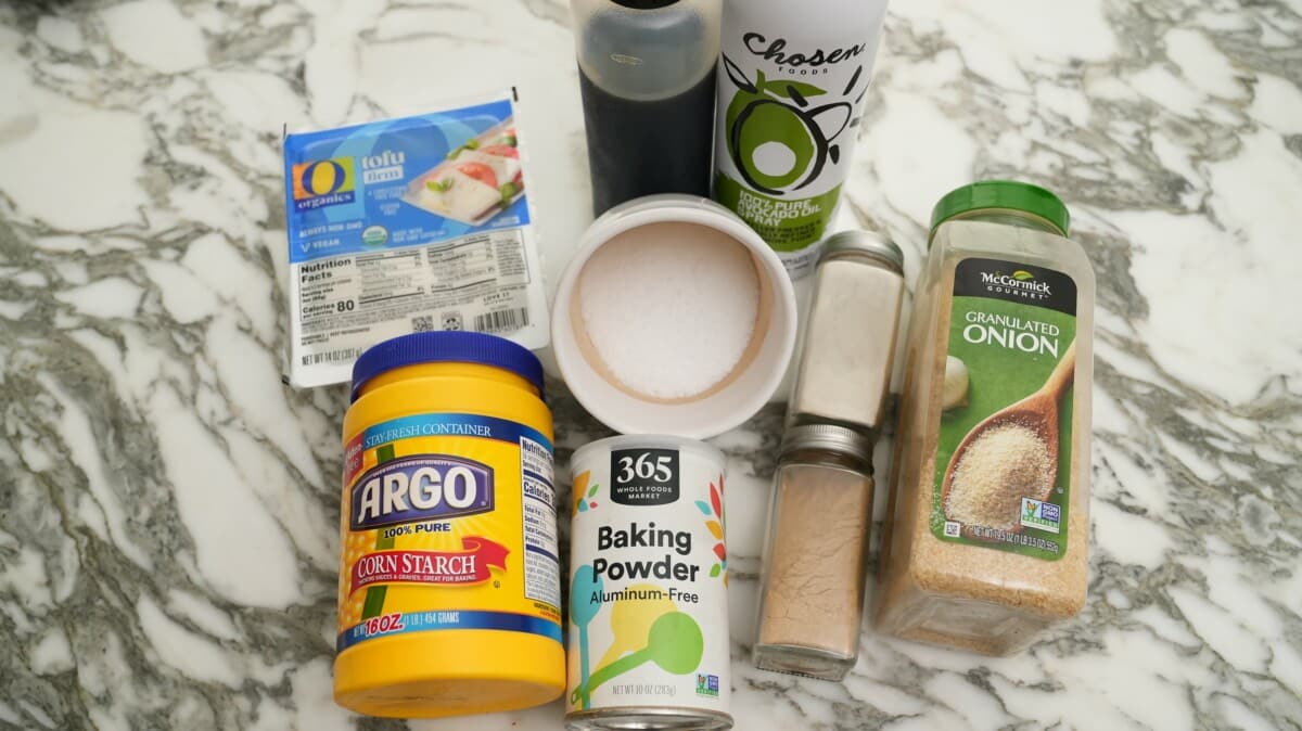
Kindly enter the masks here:
[[814, 271], [850, 169], [887, 0], [724, 0], [715, 199]]

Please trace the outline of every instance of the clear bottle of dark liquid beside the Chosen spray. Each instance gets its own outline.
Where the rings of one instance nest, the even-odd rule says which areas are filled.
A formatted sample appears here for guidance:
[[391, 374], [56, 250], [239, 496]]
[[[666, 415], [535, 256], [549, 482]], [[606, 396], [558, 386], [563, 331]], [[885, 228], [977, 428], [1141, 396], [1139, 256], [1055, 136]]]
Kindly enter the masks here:
[[710, 195], [720, 0], [573, 0], [592, 209]]

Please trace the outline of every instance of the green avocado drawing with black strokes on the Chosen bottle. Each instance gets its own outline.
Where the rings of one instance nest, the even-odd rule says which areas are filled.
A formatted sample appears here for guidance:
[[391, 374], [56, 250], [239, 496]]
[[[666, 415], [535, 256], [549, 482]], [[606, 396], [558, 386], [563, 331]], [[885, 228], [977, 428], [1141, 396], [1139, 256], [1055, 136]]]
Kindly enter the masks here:
[[[769, 81], [760, 70], [751, 81], [732, 59], [723, 59], [728, 78], [737, 85], [725, 114], [728, 156], [751, 187], [771, 195], [799, 190], [818, 179], [828, 160], [835, 165], [841, 159], [836, 138], [854, 124], [852, 103], [815, 105], [810, 99], [827, 90]], [[842, 96], [854, 90], [862, 70], [854, 72]]]

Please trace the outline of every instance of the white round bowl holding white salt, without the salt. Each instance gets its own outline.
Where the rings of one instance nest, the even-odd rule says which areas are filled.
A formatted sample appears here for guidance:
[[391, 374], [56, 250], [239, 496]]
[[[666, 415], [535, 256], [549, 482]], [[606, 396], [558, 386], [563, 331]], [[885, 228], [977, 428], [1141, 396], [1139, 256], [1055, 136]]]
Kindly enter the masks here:
[[[587, 336], [579, 303], [583, 268], [598, 248], [625, 232], [664, 222], [690, 224], [727, 234], [750, 254], [759, 284], [758, 316], [741, 359], [721, 381], [684, 398], [656, 398], [620, 382]], [[631, 315], [635, 329], [637, 313]], [[781, 384], [796, 345], [796, 294], [773, 250], [723, 206], [677, 194], [638, 198], [611, 208], [594, 221], [561, 277], [552, 310], [552, 349], [565, 384], [592, 416], [626, 434], [708, 438], [741, 425]]]

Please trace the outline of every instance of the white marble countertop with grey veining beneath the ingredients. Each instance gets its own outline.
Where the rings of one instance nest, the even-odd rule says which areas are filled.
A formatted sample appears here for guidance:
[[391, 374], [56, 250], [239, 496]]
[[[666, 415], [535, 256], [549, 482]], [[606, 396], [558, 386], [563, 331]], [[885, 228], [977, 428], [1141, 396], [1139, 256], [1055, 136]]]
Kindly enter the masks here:
[[[0, 727], [404, 726], [329, 698], [344, 392], [279, 379], [280, 134], [517, 86], [555, 282], [590, 220], [566, 25], [557, 0], [0, 5]], [[1094, 260], [1090, 601], [1013, 658], [866, 631], [844, 683], [753, 670], [771, 406], [716, 440], [737, 727], [1302, 728], [1302, 4], [887, 25], [849, 224], [911, 280], [939, 195], [1023, 178]], [[604, 431], [553, 407], [564, 466]], [[471, 726], [561, 708], [409, 723]]]

